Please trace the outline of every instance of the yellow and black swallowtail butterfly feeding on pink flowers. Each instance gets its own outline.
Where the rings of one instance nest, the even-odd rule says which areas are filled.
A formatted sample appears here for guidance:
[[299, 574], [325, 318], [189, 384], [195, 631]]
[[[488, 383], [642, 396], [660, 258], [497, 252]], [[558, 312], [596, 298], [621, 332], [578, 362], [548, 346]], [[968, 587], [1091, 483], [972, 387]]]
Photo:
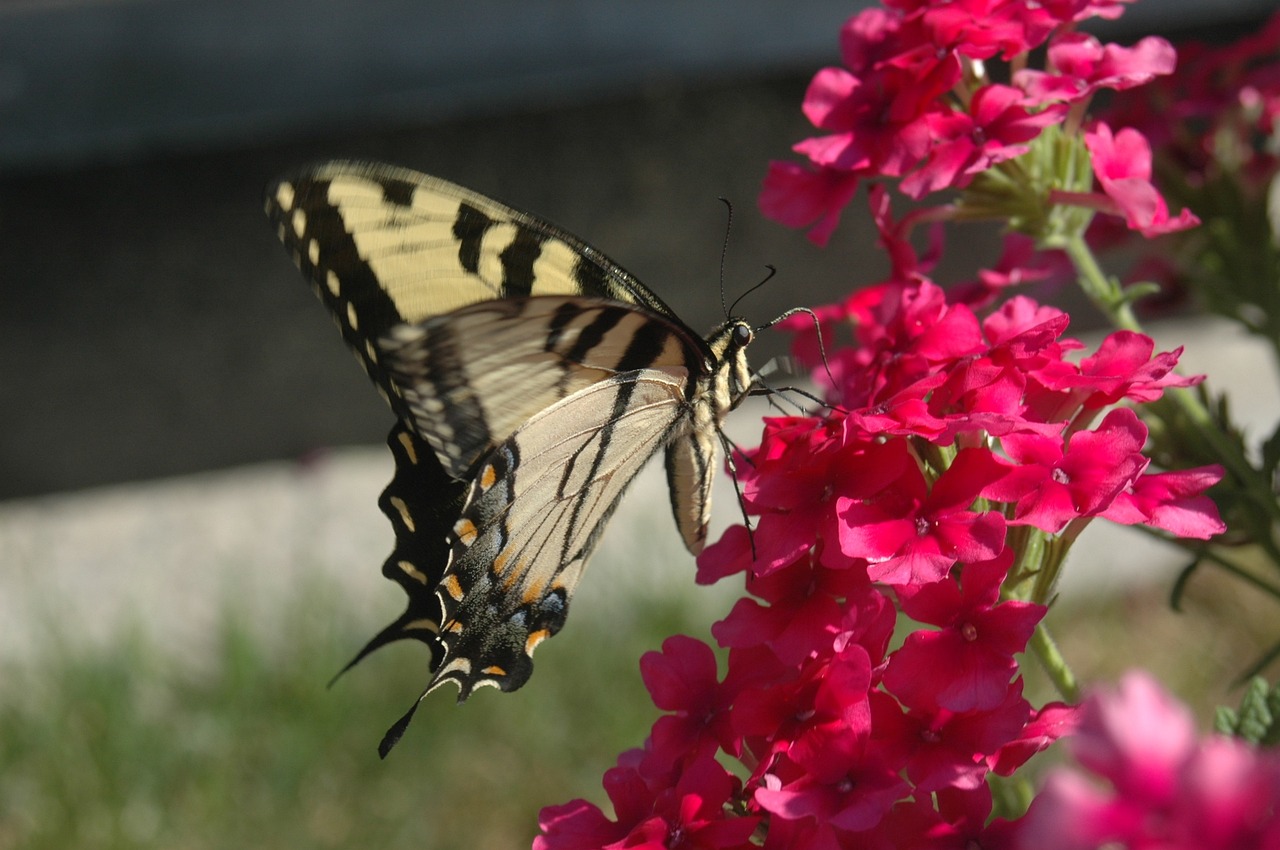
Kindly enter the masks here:
[[462, 702], [529, 680], [659, 449], [685, 547], [703, 549], [759, 329], [727, 319], [704, 338], [575, 236], [393, 165], [305, 168], [268, 187], [266, 214], [397, 417], [383, 575], [408, 607], [344, 668], [404, 638], [431, 649], [385, 757], [442, 684]]

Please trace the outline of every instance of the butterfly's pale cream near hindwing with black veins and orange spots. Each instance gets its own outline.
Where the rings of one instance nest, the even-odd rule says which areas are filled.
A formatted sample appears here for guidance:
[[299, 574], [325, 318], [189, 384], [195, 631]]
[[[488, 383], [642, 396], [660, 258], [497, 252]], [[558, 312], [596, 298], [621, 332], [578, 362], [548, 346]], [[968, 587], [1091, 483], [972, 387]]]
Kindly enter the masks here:
[[[453, 680], [466, 696], [525, 682], [529, 657], [563, 625], [622, 492], [682, 422], [684, 383], [681, 371], [657, 369], [596, 383], [530, 419], [494, 452], [456, 529], [442, 598], [445, 663], [428, 690]], [[499, 630], [520, 640], [498, 649]]]

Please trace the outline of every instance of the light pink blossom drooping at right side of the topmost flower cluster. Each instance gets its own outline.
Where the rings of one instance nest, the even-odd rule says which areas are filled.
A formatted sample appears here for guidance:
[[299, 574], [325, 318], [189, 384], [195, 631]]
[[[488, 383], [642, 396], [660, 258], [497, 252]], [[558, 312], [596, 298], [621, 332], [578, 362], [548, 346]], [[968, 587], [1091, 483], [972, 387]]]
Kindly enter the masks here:
[[1125, 128], [1112, 136], [1111, 128], [1098, 122], [1084, 133], [1084, 145], [1102, 191], [1130, 229], [1152, 237], [1199, 224], [1190, 210], [1170, 218], [1169, 205], [1151, 183], [1151, 145], [1142, 133]]

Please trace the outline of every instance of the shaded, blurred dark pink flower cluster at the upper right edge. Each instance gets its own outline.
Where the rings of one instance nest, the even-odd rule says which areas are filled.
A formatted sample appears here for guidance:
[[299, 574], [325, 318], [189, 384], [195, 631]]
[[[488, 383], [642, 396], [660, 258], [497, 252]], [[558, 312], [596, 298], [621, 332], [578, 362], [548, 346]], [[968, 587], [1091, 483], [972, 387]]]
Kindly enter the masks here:
[[1263, 312], [1275, 312], [1267, 192], [1280, 175], [1280, 12], [1239, 41], [1180, 45], [1172, 74], [1121, 92], [1103, 118], [1132, 128], [1117, 142], [1121, 133], [1146, 140], [1139, 154], [1153, 157], [1165, 189], [1208, 227], [1134, 251], [1130, 233], [1100, 216], [1089, 243], [1123, 247], [1112, 264], [1137, 253], [1126, 279], [1158, 282], [1170, 300], [1189, 287], [1208, 310], [1274, 337], [1265, 319], [1253, 321], [1253, 305], [1262, 298]]

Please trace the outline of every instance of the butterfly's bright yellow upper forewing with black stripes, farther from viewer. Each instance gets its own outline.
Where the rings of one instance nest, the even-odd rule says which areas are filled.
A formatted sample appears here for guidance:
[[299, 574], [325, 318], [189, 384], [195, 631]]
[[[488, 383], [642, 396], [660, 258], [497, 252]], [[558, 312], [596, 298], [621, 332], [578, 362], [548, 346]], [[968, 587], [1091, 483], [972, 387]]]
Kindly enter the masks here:
[[266, 206], [312, 280], [328, 287], [334, 271], [340, 289], [355, 275], [361, 292], [372, 280], [402, 321], [540, 294], [595, 296], [678, 321], [658, 296], [571, 233], [410, 169], [323, 163], [274, 183]]

